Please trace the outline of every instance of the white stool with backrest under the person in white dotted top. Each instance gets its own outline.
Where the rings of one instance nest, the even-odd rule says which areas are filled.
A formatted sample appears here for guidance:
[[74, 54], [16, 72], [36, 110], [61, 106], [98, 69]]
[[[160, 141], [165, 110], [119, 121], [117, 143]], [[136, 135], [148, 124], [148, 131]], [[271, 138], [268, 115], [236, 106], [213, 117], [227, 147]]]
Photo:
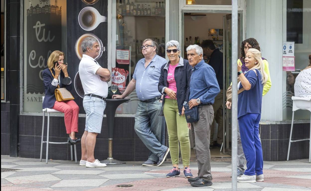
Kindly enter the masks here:
[[311, 118], [310, 118], [310, 138], [308, 139], [300, 139], [292, 141], [292, 132], [293, 132], [293, 124], [294, 124], [294, 112], [301, 109], [301, 110], [309, 110], [311, 112], [311, 97], [310, 98], [299, 98], [292, 96], [293, 100], [293, 116], [292, 116], [292, 123], [290, 127], [290, 142], [288, 145], [288, 152], [287, 152], [287, 160], [290, 157], [290, 144], [292, 142], [298, 142], [298, 141], [307, 141], [309, 140], [309, 163], [311, 163]]

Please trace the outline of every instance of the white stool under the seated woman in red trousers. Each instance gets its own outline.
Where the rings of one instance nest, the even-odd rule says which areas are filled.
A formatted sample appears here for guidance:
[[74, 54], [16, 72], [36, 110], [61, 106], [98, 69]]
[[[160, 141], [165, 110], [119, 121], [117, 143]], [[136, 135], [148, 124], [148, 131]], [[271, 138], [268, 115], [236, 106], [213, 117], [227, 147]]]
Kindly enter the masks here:
[[[42, 96], [42, 102], [44, 100], [44, 96]], [[43, 149], [43, 143], [46, 143], [46, 158], [45, 163], [48, 163], [48, 155], [49, 155], [49, 143], [50, 144], [70, 144], [68, 142], [51, 142], [49, 141], [49, 130], [50, 130], [50, 113], [61, 113], [60, 111], [51, 109], [51, 108], [44, 108], [43, 110], [43, 121], [42, 121], [42, 135], [41, 135], [41, 150], [40, 150], [40, 161], [42, 161], [42, 149]], [[44, 116], [45, 112], [48, 113], [48, 124], [47, 124], [47, 136], [46, 141], [43, 141], [43, 134], [44, 134]], [[77, 163], [77, 148], [76, 145], [74, 145], [74, 151], [75, 151], [75, 161]], [[72, 145], [70, 145], [70, 152], [71, 152], [71, 160], [73, 161], [72, 156]]]

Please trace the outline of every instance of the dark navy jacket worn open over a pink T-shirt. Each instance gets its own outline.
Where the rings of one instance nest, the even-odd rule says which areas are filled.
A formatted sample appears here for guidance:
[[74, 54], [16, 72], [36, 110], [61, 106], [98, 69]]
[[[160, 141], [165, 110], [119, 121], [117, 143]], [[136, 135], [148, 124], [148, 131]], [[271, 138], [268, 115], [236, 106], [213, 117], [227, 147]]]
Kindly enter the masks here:
[[[167, 84], [167, 72], [169, 68], [169, 63], [164, 64], [161, 67], [161, 75], [159, 79], [158, 89], [159, 92], [164, 94], [163, 101], [162, 101], [162, 109], [160, 112], [160, 116], [163, 116], [163, 106], [165, 102], [166, 93], [164, 93], [164, 89], [168, 87]], [[176, 88], [177, 88], [177, 105], [179, 115], [181, 115], [181, 111], [183, 109], [183, 103], [186, 101], [188, 102], [189, 99], [189, 87], [190, 87], [190, 77], [192, 74], [192, 67], [190, 66], [188, 60], [184, 60], [182, 57], [179, 59], [179, 64], [175, 68], [175, 81], [176, 81]]]

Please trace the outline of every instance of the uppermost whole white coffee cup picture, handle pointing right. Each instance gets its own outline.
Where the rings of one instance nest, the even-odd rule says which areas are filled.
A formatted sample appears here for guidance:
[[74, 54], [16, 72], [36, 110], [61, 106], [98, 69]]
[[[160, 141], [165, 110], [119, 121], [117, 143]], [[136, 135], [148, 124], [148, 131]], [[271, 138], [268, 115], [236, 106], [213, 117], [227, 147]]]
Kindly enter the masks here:
[[92, 31], [100, 23], [107, 22], [107, 17], [100, 15], [94, 7], [84, 7], [79, 13], [78, 20], [83, 30]]

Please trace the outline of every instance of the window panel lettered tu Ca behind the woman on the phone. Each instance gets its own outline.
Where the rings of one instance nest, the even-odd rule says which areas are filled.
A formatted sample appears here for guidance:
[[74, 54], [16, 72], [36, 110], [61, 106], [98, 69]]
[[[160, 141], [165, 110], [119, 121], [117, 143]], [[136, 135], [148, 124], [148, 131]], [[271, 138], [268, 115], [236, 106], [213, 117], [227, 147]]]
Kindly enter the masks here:
[[65, 0], [24, 3], [23, 111], [42, 112], [42, 72], [54, 50], [61, 50], [62, 5]]

